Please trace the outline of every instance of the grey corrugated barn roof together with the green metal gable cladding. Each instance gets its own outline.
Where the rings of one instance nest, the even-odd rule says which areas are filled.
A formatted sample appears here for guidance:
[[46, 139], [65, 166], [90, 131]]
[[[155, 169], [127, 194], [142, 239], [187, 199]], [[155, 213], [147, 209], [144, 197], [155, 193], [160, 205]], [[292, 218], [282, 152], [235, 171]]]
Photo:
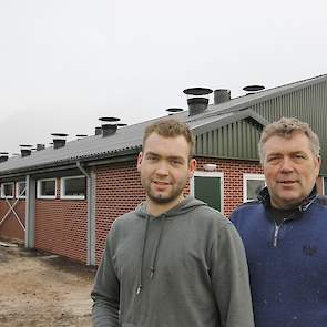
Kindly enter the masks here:
[[[243, 153], [243, 159], [247, 159], [248, 156], [253, 157], [256, 153], [254, 149], [248, 149], [248, 142], [253, 140], [253, 137], [255, 139], [254, 142], [256, 142], [257, 135], [253, 131], [249, 132], [242, 117], [239, 117], [242, 120], [239, 124], [235, 123], [235, 117], [239, 120], [239, 113], [246, 111], [246, 109], [251, 109], [258, 113], [256, 120], [263, 121], [264, 124], [266, 121], [274, 121], [280, 117], [282, 114], [298, 116], [313, 126], [317, 126], [318, 135], [321, 139], [324, 159], [327, 159], [327, 137], [325, 131], [327, 112], [326, 80], [327, 75], [321, 75], [260, 91], [256, 94], [232, 99], [218, 105], [210, 105], [204, 113], [194, 116], [188, 116], [188, 112], [186, 111], [174, 114], [172, 117], [187, 122], [190, 127], [197, 134], [215, 131], [215, 125], [219, 126], [219, 129], [211, 135], [207, 134], [205, 142], [203, 136], [196, 136], [196, 151], [205, 151], [216, 156], [225, 156], [226, 153], [235, 154], [236, 152], [237, 157]], [[308, 106], [310, 111], [307, 110]], [[315, 109], [313, 106], [315, 106]], [[62, 149], [45, 149], [34, 152], [28, 157], [10, 159], [0, 164], [0, 174], [3, 175], [8, 171], [19, 168], [38, 167], [79, 159], [96, 159], [100, 155], [110, 156], [111, 154], [126, 150], [136, 151], [142, 144], [144, 129], [154, 121], [156, 120], [119, 129], [115, 134], [108, 137], [102, 137], [101, 135], [89, 136], [79, 141], [68, 142]], [[232, 124], [232, 127], [225, 129], [224, 125], [226, 124]], [[236, 137], [234, 129], [235, 131], [243, 130], [243, 133], [239, 134], [239, 132], [237, 132]], [[251, 136], [251, 133], [254, 134]], [[327, 160], [324, 160], [323, 163], [324, 172], [327, 173]]]

